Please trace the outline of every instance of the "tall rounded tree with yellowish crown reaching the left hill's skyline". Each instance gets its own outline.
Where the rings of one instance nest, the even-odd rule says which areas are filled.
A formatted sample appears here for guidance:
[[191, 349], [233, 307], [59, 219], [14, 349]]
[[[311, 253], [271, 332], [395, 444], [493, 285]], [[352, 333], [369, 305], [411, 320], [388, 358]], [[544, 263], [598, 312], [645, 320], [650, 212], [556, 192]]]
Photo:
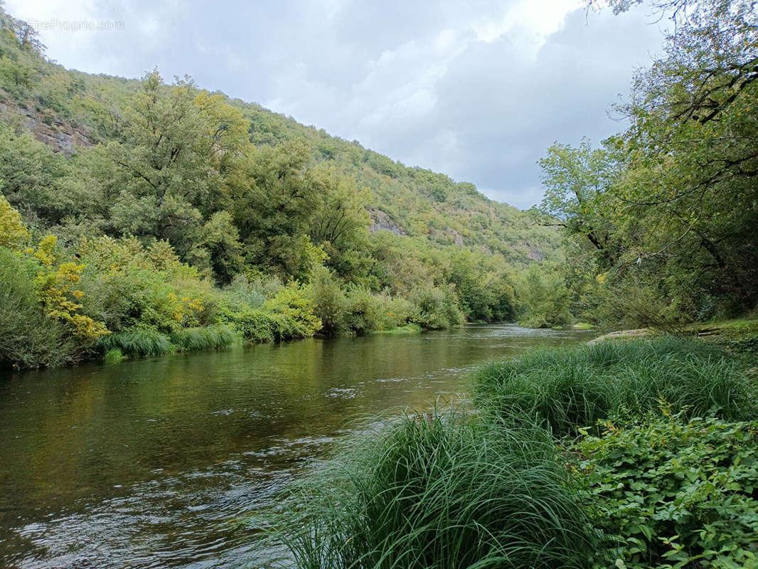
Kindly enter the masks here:
[[157, 71], [147, 74], [124, 112], [121, 140], [105, 149], [120, 178], [115, 231], [166, 239], [184, 258], [245, 139], [240, 112], [220, 96], [197, 90], [189, 79], [167, 87]]

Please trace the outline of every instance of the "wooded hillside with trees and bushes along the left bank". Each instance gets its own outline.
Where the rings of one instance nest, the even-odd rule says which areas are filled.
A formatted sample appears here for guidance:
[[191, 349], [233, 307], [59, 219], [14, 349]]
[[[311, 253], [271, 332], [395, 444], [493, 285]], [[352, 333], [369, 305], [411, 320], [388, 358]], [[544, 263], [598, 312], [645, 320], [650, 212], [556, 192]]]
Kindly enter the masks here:
[[510, 320], [561, 256], [472, 184], [44, 50], [0, 12], [0, 366]]

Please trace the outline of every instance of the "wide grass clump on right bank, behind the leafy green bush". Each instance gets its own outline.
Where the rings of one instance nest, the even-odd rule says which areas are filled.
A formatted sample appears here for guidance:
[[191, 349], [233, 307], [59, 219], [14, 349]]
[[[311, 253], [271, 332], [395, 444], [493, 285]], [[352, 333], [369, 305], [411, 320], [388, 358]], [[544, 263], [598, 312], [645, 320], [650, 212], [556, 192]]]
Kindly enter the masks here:
[[755, 412], [755, 394], [744, 368], [725, 352], [674, 337], [534, 351], [475, 376], [481, 408], [547, 423], [559, 436], [625, 411], [656, 410], [661, 399], [675, 412], [744, 420]]

